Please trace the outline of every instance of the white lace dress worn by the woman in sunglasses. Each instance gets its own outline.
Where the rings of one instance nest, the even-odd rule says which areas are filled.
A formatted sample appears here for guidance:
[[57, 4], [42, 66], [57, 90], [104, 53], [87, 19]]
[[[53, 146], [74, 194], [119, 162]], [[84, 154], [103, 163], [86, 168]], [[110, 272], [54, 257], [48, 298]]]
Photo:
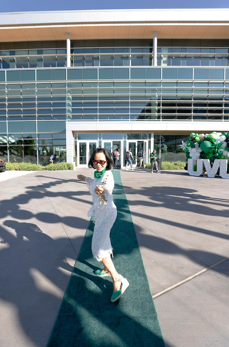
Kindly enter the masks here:
[[[113, 256], [110, 231], [117, 217], [117, 209], [113, 202], [112, 191], [114, 188], [114, 177], [111, 171], [105, 173], [96, 181], [96, 178], [86, 177], [85, 181], [92, 195], [93, 206], [88, 211], [88, 217], [94, 216], [94, 233], [92, 237], [92, 254], [95, 259]], [[104, 201], [100, 194], [95, 193], [96, 185], [103, 186]]]

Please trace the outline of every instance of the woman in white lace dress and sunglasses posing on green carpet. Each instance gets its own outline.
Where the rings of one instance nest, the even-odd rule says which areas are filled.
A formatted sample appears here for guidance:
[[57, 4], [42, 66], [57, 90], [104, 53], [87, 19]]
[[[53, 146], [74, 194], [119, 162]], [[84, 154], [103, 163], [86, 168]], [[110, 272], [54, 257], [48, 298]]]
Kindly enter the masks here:
[[117, 217], [117, 209], [113, 202], [112, 191], [114, 178], [112, 175], [112, 159], [104, 148], [97, 148], [89, 160], [89, 167], [96, 169], [94, 178], [78, 175], [81, 181], [86, 181], [92, 195], [93, 206], [88, 211], [88, 216], [94, 216], [94, 233], [92, 237], [92, 254], [101, 261], [104, 269], [96, 270], [99, 277], [112, 276], [114, 290], [111, 301], [114, 302], [124, 293], [129, 286], [126, 278], [119, 274], [112, 262], [113, 248], [111, 246], [110, 231]]

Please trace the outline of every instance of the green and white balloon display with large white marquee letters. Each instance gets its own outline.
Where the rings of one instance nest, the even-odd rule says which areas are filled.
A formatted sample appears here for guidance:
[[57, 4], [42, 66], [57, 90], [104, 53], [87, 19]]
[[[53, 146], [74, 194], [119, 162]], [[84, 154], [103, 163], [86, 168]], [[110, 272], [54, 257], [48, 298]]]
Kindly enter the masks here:
[[219, 175], [229, 178], [229, 132], [211, 134], [190, 134], [190, 139], [180, 147], [186, 152], [186, 167], [191, 176], [204, 172], [208, 177]]

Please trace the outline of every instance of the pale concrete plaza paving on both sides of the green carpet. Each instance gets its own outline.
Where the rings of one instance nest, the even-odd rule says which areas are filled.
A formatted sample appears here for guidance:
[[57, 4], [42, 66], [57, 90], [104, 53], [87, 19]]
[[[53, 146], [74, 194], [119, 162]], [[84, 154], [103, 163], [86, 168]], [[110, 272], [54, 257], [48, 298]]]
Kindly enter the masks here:
[[[37, 171], [0, 182], [0, 346], [47, 344], [89, 223], [79, 173], [93, 176]], [[121, 177], [153, 295], [228, 257], [228, 180], [183, 170]], [[154, 302], [166, 347], [228, 346], [228, 260]]]

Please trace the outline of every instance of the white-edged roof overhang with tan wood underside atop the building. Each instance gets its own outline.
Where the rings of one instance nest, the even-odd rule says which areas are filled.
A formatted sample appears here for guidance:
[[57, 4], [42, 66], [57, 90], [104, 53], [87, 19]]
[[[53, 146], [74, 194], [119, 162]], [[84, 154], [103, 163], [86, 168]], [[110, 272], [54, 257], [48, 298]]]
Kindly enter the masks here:
[[229, 9], [139, 9], [0, 13], [0, 41], [228, 39]]

